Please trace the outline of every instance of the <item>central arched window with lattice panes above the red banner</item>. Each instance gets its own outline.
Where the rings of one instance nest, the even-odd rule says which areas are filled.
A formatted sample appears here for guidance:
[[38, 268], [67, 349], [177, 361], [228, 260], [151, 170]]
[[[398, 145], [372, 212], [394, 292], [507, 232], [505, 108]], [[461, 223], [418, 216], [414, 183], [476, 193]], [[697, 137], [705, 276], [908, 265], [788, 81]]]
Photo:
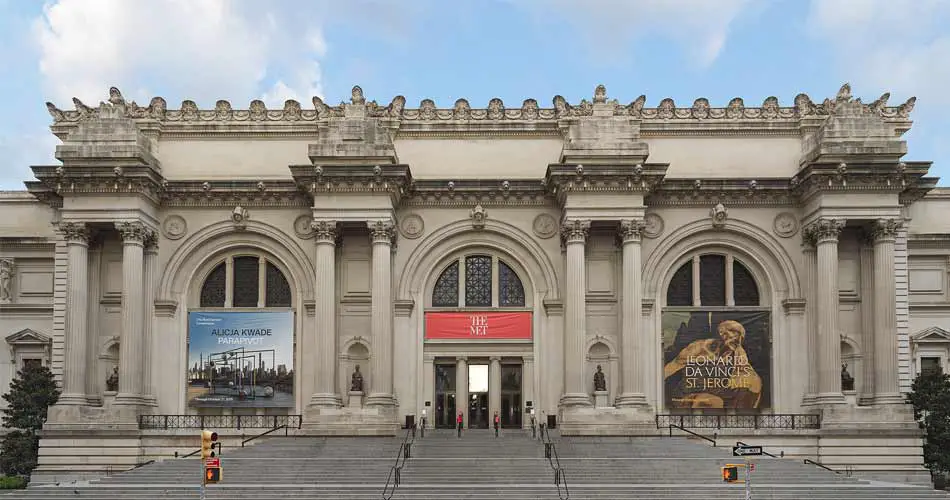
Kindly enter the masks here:
[[442, 270], [432, 289], [432, 306], [525, 307], [524, 285], [498, 257], [466, 255]]

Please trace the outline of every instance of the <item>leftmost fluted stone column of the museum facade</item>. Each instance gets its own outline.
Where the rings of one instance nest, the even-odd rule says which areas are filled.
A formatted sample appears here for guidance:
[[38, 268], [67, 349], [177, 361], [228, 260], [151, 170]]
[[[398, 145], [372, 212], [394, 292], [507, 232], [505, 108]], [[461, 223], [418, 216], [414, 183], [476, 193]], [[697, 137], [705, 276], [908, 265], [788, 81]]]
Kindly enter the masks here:
[[60, 222], [66, 240], [66, 364], [63, 367], [62, 405], [85, 405], [86, 332], [89, 311], [89, 227], [81, 222]]

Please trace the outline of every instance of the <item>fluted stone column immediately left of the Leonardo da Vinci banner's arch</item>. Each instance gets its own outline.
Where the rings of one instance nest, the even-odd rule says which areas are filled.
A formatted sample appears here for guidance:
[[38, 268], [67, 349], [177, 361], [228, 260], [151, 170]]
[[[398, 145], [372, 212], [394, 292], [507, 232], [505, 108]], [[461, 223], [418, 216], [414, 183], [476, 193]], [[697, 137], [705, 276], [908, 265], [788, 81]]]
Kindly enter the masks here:
[[620, 222], [620, 239], [623, 245], [623, 323], [620, 345], [623, 393], [617, 398], [617, 406], [620, 407], [647, 404], [643, 394], [643, 332], [640, 328], [643, 317], [640, 298], [640, 237], [643, 228], [644, 223], [640, 220]]

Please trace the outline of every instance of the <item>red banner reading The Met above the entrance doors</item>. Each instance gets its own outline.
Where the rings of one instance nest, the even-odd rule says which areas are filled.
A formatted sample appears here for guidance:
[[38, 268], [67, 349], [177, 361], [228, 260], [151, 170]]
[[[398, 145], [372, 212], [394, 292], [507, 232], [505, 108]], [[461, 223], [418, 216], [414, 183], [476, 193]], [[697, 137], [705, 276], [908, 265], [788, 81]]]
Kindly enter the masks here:
[[426, 313], [427, 339], [531, 339], [530, 312]]

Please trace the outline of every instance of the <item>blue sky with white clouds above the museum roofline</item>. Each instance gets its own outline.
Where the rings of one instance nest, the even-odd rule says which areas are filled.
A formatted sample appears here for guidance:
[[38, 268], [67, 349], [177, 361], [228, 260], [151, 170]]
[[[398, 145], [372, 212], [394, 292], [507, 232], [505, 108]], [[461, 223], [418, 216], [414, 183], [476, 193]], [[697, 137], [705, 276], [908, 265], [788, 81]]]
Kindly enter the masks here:
[[865, 102], [916, 96], [905, 159], [950, 185], [945, 0], [0, 0], [0, 68], [0, 190], [58, 164], [46, 101], [96, 105], [110, 86], [174, 109], [335, 104], [353, 85], [383, 105], [550, 107], [598, 84], [724, 107], [821, 102], [845, 82]]

